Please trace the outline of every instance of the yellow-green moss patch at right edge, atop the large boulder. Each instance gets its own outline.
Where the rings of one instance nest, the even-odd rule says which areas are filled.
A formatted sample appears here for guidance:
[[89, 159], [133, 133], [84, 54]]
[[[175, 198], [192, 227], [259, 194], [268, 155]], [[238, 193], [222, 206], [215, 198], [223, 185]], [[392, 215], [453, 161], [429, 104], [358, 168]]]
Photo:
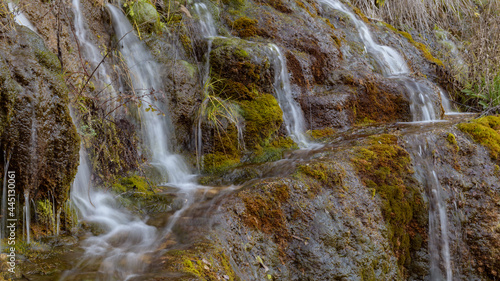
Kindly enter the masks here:
[[485, 146], [492, 159], [500, 159], [500, 116], [475, 119], [470, 123], [458, 124], [457, 127]]

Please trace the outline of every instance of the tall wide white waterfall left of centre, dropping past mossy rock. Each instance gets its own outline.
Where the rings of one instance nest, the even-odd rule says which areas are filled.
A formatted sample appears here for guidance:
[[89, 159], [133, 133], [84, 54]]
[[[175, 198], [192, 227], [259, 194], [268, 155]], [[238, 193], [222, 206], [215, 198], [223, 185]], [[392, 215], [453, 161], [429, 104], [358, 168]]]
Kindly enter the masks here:
[[135, 93], [145, 104], [141, 106], [140, 113], [145, 145], [150, 149], [152, 156], [151, 164], [163, 175], [168, 175], [164, 180], [169, 185], [180, 189], [192, 189], [195, 186], [194, 175], [190, 173], [181, 156], [169, 151], [172, 129], [167, 118], [162, 114], [147, 112], [149, 106], [162, 108], [161, 103], [153, 96], [162, 90], [158, 65], [145, 45], [133, 33], [134, 29], [122, 11], [113, 5], [107, 7], [111, 13], [116, 37], [121, 40], [119, 49], [132, 73], [130, 76]]

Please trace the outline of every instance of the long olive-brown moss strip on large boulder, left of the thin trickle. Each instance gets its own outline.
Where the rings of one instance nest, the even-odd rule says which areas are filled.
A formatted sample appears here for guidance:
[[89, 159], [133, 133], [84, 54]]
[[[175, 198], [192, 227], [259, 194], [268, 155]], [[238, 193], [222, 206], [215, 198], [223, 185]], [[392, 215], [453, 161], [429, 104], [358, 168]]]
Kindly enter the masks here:
[[417, 233], [425, 234], [418, 219], [425, 214], [425, 207], [414, 187], [409, 154], [397, 144], [395, 136], [380, 135], [369, 138], [366, 147], [357, 148], [352, 161], [364, 184], [382, 200], [381, 210], [398, 265], [408, 266], [410, 240]]

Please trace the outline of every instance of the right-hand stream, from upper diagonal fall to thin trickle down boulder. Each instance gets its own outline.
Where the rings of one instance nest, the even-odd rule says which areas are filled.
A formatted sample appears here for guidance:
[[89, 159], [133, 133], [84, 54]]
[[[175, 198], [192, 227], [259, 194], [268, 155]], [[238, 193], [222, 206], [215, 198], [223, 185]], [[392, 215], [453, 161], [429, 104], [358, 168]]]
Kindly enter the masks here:
[[[382, 72], [386, 77], [391, 77], [399, 81], [410, 94], [410, 109], [413, 115], [413, 121], [435, 121], [438, 119], [436, 110], [431, 99], [431, 95], [438, 95], [437, 86], [432, 85], [429, 81], [417, 81], [410, 77], [410, 70], [404, 58], [394, 49], [383, 46], [375, 42], [372, 38], [368, 26], [358, 19], [353, 12], [347, 9], [338, 0], [321, 0], [331, 8], [341, 11], [349, 16], [359, 32], [360, 38], [363, 41], [368, 53], [382, 67]], [[445, 95], [439, 90], [439, 99], [447, 101]], [[448, 110], [451, 106], [444, 102]], [[420, 142], [423, 143], [423, 142]], [[422, 156], [422, 146], [419, 145]], [[428, 161], [425, 161], [425, 166], [429, 169], [432, 167]], [[431, 280], [452, 280], [452, 268], [450, 257], [450, 246], [448, 239], [448, 221], [446, 215], [446, 204], [442, 198], [442, 186], [436, 176], [434, 170], [429, 170], [422, 177], [426, 178], [429, 189], [429, 253], [431, 255]], [[441, 250], [439, 250], [441, 249]], [[443, 274], [441, 277], [440, 261], [444, 263]]]

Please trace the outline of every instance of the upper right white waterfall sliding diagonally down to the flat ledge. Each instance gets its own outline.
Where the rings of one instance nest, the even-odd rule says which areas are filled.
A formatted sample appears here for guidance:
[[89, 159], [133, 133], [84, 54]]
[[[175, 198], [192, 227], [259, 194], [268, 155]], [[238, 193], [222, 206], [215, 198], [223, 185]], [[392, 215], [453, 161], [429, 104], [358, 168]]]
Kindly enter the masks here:
[[402, 86], [406, 87], [410, 95], [413, 121], [437, 120], [438, 115], [435, 113], [430, 96], [436, 92], [433, 87], [428, 87], [424, 82], [410, 78], [408, 76], [410, 69], [404, 58], [393, 48], [376, 43], [368, 26], [358, 19], [344, 4], [338, 0], [320, 0], [320, 2], [347, 14], [358, 30], [366, 50], [382, 68], [382, 74], [399, 81]]

